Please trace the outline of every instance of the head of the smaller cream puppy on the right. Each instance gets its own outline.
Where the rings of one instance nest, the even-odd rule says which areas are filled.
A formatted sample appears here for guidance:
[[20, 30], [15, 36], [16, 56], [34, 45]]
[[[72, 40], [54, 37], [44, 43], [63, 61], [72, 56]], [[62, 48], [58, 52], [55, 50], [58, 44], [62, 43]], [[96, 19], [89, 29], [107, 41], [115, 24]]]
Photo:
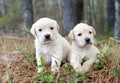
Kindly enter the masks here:
[[69, 37], [77, 43], [79, 47], [85, 47], [94, 44], [95, 34], [96, 32], [92, 26], [79, 23], [71, 30]]

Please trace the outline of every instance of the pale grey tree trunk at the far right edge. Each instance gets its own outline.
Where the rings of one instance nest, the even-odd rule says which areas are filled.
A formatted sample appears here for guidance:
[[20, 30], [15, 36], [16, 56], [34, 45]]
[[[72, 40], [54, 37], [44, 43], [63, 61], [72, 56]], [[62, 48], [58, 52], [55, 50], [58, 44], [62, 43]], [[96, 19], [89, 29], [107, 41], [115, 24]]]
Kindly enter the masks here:
[[115, 29], [114, 37], [120, 40], [120, 0], [115, 0]]

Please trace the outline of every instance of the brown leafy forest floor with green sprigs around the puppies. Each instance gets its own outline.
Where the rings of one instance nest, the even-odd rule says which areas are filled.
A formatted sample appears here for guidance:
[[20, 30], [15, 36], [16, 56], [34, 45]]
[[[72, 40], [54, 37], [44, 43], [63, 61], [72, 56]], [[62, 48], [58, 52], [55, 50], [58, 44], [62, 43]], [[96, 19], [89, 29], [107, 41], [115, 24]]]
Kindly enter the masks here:
[[[0, 36], [0, 83], [120, 83], [120, 43], [110, 39], [98, 41], [100, 62], [83, 73], [75, 73], [69, 63], [52, 74], [50, 66], [37, 73], [34, 38]], [[14, 36], [14, 35], [12, 35]]]

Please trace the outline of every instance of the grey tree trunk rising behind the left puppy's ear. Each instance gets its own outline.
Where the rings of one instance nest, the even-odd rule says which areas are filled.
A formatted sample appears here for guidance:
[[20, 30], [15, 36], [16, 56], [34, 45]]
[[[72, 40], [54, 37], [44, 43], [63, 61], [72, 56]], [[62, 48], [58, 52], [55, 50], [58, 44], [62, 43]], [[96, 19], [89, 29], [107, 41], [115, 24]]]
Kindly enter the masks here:
[[30, 29], [33, 24], [32, 0], [23, 0], [23, 20], [25, 27]]

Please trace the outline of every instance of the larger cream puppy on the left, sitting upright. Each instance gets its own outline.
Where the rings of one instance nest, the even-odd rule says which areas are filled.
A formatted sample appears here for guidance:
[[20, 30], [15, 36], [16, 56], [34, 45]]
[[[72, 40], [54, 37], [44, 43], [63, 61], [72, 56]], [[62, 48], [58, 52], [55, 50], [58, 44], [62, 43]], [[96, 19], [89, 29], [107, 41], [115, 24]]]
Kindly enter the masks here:
[[[35, 36], [37, 65], [42, 65], [42, 57], [46, 63], [51, 64], [52, 72], [59, 70], [62, 60], [66, 59], [70, 49], [70, 44], [58, 30], [57, 22], [50, 18], [39, 19], [30, 30]], [[42, 72], [44, 68], [38, 67], [38, 72]]]

